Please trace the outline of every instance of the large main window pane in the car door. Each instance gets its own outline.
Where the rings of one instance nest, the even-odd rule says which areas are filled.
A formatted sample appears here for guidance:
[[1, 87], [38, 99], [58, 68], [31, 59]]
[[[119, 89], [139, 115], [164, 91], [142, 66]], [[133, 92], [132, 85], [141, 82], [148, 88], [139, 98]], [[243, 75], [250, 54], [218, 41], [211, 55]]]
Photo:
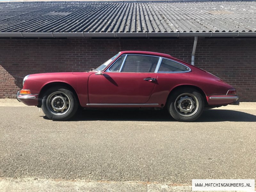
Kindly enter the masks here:
[[127, 55], [121, 72], [154, 73], [159, 57]]

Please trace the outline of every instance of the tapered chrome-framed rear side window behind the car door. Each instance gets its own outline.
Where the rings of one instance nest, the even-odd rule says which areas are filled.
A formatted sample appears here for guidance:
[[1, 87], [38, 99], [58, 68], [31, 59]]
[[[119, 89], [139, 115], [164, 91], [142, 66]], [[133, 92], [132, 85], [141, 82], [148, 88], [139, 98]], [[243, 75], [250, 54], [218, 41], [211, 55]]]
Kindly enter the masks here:
[[168, 72], [188, 72], [190, 69], [176, 61], [169, 60], [169, 59], [162, 59], [158, 72], [168, 73]]

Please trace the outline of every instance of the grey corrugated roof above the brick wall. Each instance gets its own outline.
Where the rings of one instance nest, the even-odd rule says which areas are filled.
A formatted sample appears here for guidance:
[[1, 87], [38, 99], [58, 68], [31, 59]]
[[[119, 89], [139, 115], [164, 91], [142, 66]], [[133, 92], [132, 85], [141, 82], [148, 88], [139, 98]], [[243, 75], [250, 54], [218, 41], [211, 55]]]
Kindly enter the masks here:
[[0, 32], [256, 32], [256, 2], [0, 4]]

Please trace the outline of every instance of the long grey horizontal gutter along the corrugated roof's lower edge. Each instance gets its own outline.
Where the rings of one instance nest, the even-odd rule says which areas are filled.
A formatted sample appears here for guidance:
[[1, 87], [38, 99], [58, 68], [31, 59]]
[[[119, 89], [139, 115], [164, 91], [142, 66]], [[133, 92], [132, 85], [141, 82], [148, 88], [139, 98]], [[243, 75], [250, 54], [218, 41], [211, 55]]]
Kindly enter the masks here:
[[0, 37], [255, 37], [256, 32], [0, 33]]

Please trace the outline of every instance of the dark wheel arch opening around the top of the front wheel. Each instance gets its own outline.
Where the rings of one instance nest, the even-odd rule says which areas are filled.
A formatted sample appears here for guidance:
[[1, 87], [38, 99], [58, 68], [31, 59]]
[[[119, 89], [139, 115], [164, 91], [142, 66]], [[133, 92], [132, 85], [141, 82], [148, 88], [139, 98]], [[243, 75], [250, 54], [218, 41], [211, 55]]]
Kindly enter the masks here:
[[78, 98], [78, 95], [77, 95], [77, 92], [76, 90], [68, 83], [65, 83], [65, 82], [51, 82], [51, 83], [48, 83], [48, 84], [45, 84], [42, 89], [40, 90], [39, 92], [39, 95], [38, 95], [38, 106], [37, 107], [41, 107], [42, 105], [42, 99], [43, 99], [43, 95], [44, 95], [44, 92], [51, 88], [51, 87], [54, 87], [54, 86], [64, 86], [64, 87], [67, 87], [70, 91], [72, 91], [75, 96], [76, 96], [76, 99], [79, 101], [79, 105], [80, 105], [80, 100]]

